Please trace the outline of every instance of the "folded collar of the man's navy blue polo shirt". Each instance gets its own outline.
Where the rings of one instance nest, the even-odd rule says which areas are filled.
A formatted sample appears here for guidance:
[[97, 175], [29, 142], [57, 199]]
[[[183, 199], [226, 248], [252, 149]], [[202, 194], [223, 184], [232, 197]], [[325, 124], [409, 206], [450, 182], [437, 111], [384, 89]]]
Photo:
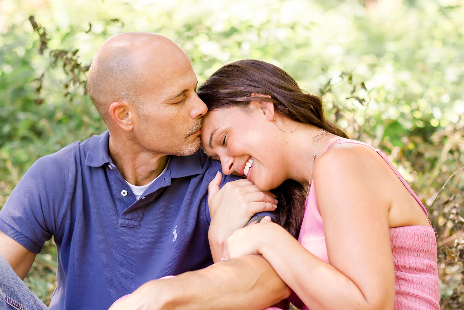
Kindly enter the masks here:
[[[101, 167], [112, 162], [108, 154], [109, 140], [110, 132], [108, 132], [108, 130], [99, 136], [93, 136], [91, 138], [89, 151], [85, 157], [86, 165], [90, 167]], [[171, 178], [183, 178], [202, 173], [203, 165], [200, 152], [201, 151], [197, 151], [190, 156], [171, 155], [168, 166]]]

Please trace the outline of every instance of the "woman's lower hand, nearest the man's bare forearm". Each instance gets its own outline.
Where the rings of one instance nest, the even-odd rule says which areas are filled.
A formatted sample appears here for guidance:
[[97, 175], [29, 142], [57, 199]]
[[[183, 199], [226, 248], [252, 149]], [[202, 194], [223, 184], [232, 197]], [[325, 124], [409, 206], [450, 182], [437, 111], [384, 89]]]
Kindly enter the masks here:
[[[238, 229], [227, 239], [227, 258], [236, 258], [250, 254], [262, 254], [266, 249], [275, 250], [278, 244], [285, 242], [291, 235], [278, 224], [272, 223], [266, 216], [260, 223]], [[264, 257], [266, 258], [266, 257]]]

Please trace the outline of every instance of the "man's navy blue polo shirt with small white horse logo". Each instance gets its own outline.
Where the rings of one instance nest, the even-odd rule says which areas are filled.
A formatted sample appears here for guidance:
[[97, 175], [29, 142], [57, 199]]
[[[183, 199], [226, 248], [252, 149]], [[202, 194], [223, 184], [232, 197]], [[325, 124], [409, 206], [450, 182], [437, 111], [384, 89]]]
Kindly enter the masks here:
[[136, 201], [108, 139], [104, 132], [39, 158], [0, 211], [0, 230], [33, 253], [54, 236], [52, 310], [106, 310], [149, 280], [213, 264], [207, 192], [220, 163], [201, 149], [171, 156]]

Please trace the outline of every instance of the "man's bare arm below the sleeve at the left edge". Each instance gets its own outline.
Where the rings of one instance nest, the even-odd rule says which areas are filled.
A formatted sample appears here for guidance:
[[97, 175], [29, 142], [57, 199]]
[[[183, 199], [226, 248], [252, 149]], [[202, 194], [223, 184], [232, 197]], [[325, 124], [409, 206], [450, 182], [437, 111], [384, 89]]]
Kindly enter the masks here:
[[24, 280], [35, 259], [34, 253], [2, 231], [0, 231], [0, 255], [6, 259], [21, 280]]

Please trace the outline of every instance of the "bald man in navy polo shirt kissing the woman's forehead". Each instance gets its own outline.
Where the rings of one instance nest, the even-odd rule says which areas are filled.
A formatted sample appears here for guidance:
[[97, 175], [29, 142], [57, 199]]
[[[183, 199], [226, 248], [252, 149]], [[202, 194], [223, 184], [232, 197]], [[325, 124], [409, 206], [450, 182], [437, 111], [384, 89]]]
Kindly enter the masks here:
[[[198, 151], [206, 106], [196, 84], [187, 55], [161, 35], [122, 33], [98, 50], [88, 90], [108, 131], [40, 158], [0, 211], [0, 254], [21, 278], [54, 236], [50, 309], [108, 309], [150, 280], [212, 264], [206, 195], [220, 164]], [[1, 281], [11, 300], [5, 291], [21, 284]], [[132, 306], [259, 309], [285, 295], [269, 264], [252, 256], [148, 282]]]

